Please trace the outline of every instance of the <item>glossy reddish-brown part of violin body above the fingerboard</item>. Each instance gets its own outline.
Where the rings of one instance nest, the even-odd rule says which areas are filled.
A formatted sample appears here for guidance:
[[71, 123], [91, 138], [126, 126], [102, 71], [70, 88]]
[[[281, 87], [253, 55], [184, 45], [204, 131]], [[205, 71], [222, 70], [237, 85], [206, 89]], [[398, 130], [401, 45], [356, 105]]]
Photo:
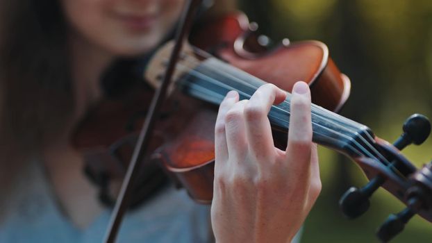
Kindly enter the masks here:
[[312, 102], [338, 112], [349, 97], [351, 82], [329, 56], [326, 44], [308, 40], [268, 49], [259, 43], [258, 25], [235, 12], [197, 26], [190, 43], [244, 72], [291, 92], [297, 81], [309, 84]]

